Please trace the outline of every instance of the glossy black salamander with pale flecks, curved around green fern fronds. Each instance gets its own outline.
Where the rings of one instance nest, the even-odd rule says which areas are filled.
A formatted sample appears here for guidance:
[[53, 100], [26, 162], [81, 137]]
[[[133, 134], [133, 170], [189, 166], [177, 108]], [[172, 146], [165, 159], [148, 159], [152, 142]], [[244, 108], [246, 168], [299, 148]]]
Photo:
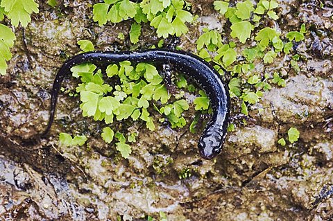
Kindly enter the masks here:
[[228, 89], [225, 87], [225, 83], [219, 76], [219, 73], [210, 64], [196, 55], [183, 51], [169, 51], [167, 49], [126, 52], [95, 51], [81, 53], [67, 60], [58, 71], [56, 80], [53, 82], [51, 113], [49, 124], [44, 134], [49, 132], [51, 128], [61, 82], [65, 76], [71, 75], [71, 67], [86, 62], [91, 62], [99, 67], [106, 67], [105, 65], [125, 60], [133, 63], [153, 62], [157, 64], [173, 64], [176, 70], [185, 73], [185, 75], [194, 79], [200, 85], [210, 98], [213, 114], [199, 139], [198, 148], [200, 156], [204, 159], [216, 157], [221, 152], [229, 123], [230, 98]]

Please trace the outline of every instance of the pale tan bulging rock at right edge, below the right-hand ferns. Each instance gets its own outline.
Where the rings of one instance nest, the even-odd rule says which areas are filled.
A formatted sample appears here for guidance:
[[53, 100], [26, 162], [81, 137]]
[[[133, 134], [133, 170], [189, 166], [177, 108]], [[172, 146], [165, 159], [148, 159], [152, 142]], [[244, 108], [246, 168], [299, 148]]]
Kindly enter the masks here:
[[330, 80], [321, 78], [289, 78], [286, 87], [264, 94], [262, 121], [287, 123], [292, 119], [294, 125], [323, 122], [332, 113], [332, 87]]

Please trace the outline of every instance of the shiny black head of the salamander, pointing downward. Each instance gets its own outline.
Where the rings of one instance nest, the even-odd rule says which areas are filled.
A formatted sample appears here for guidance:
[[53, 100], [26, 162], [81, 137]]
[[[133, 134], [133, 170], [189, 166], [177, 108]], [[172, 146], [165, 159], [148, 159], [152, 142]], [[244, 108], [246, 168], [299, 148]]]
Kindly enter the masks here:
[[198, 148], [200, 156], [203, 159], [213, 159], [222, 149], [225, 134], [222, 130], [216, 130], [214, 127], [209, 127], [199, 139]]

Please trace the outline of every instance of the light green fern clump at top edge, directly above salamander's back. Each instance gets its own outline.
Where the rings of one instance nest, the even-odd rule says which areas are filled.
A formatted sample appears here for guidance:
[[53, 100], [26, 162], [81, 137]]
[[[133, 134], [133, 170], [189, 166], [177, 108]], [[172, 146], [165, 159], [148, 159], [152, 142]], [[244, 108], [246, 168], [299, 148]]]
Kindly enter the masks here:
[[187, 33], [187, 22], [193, 21], [193, 16], [187, 11], [190, 4], [184, 0], [143, 0], [134, 2], [129, 0], [104, 0], [104, 3], [94, 5], [94, 21], [99, 26], [133, 19], [135, 23], [130, 29], [130, 41], [136, 44], [141, 32], [140, 23], [149, 21], [156, 28], [158, 37], [169, 35], [180, 36]]

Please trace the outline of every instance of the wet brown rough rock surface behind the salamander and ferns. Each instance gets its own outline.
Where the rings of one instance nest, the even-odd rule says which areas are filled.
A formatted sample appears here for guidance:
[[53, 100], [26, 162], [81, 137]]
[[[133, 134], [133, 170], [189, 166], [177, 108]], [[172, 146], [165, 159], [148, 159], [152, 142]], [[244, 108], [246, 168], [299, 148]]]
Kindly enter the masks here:
[[[228, 25], [214, 1], [190, 2], [198, 23], [181, 44], [195, 51], [203, 26]], [[17, 30], [9, 74], [0, 77], [0, 218], [147, 220], [162, 211], [168, 220], [332, 220], [333, 6], [327, 2], [279, 1], [282, 33], [302, 23], [314, 26], [316, 37], [307, 35], [295, 49], [306, 58], [300, 72], [283, 61], [272, 64], [284, 67], [287, 86], [264, 93], [250, 109], [250, 121], [235, 123], [221, 154], [205, 161], [196, 148], [200, 132], [164, 124], [150, 132], [139, 123], [123, 125], [139, 136], [128, 160], [122, 159], [101, 140], [103, 125], [83, 118], [78, 98], [66, 94], [60, 94], [49, 138], [29, 140], [46, 127], [54, 76], [78, 52], [79, 39], [100, 50], [130, 46], [117, 38], [130, 23], [101, 28], [92, 21], [95, 1], [62, 1], [57, 9], [40, 1], [40, 13]], [[158, 42], [152, 31], [143, 31], [141, 47]], [[256, 69], [264, 71], [263, 64]], [[76, 84], [67, 78], [63, 86]], [[192, 106], [185, 117], [193, 116]], [[279, 145], [290, 127], [300, 131], [299, 141]], [[84, 132], [89, 146], [58, 146], [64, 131]]]

